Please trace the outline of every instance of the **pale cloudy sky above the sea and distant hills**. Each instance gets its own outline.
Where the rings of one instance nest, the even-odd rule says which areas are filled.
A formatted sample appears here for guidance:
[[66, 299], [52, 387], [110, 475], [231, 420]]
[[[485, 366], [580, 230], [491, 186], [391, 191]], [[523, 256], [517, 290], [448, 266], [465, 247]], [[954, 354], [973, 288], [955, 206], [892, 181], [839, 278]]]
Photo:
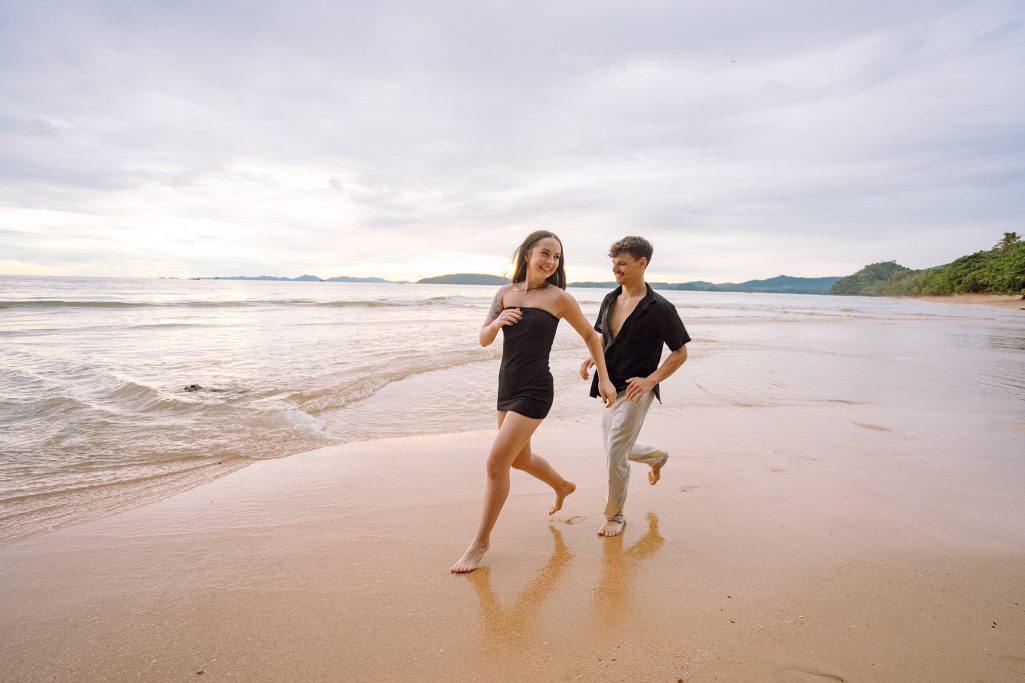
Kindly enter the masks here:
[[0, 273], [924, 268], [1025, 232], [1025, 4], [0, 4]]

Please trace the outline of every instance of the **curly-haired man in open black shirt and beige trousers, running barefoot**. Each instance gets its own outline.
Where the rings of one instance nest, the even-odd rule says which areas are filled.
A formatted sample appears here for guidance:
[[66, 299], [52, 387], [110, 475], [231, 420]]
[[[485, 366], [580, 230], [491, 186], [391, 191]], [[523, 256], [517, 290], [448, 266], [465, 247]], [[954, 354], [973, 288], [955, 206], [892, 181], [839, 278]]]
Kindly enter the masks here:
[[[669, 454], [637, 440], [645, 415], [654, 399], [659, 403], [659, 383], [667, 379], [687, 361], [691, 340], [676, 308], [656, 294], [645, 282], [645, 270], [654, 251], [643, 237], [624, 237], [609, 249], [616, 289], [609, 292], [598, 312], [594, 329], [602, 333], [605, 364], [618, 395], [612, 407], [602, 411], [602, 435], [609, 466], [609, 497], [605, 504], [605, 524], [600, 536], [619, 535], [626, 524], [623, 505], [630, 479], [630, 460], [651, 468], [648, 482], [658, 483]], [[662, 345], [670, 353], [659, 365]], [[588, 376], [594, 361], [588, 357], [580, 365], [580, 376]], [[598, 396], [598, 375], [590, 395]]]

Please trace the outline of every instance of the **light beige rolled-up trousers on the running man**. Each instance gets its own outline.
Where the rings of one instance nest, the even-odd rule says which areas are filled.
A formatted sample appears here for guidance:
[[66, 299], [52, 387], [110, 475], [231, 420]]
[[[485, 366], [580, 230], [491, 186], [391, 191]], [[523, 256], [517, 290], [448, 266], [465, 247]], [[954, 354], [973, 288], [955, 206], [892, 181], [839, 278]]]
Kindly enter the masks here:
[[648, 392], [640, 403], [634, 403], [626, 400], [626, 392], [619, 392], [612, 407], [602, 410], [602, 436], [609, 464], [609, 497], [605, 504], [605, 518], [609, 521], [623, 521], [626, 487], [630, 483], [630, 460], [660, 468], [669, 458], [664, 450], [638, 441], [645, 415], [654, 399], [655, 395]]

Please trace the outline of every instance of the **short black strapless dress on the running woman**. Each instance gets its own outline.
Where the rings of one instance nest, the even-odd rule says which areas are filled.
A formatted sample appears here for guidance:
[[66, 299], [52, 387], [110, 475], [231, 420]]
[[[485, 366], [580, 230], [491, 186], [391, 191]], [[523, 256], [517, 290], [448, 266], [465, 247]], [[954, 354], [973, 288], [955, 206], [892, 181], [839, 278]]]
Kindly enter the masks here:
[[520, 322], [502, 327], [502, 366], [498, 370], [498, 409], [544, 419], [556, 392], [548, 370], [548, 354], [559, 318], [544, 309], [518, 308]]

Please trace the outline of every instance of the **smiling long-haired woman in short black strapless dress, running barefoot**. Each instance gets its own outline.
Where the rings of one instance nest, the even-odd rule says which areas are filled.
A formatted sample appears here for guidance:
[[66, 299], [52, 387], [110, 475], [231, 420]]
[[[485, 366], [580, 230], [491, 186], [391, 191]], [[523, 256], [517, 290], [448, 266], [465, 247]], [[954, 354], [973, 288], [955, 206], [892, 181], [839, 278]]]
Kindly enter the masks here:
[[488, 455], [487, 483], [481, 525], [469, 548], [452, 571], [477, 569], [491, 544], [491, 530], [509, 493], [509, 468], [537, 477], [556, 491], [548, 510], [554, 515], [576, 486], [563, 479], [548, 463], [530, 452], [530, 437], [548, 414], [555, 396], [548, 353], [563, 318], [573, 325], [591, 358], [598, 360], [599, 393], [606, 405], [616, 390], [605, 369], [602, 336], [588, 324], [576, 299], [566, 291], [563, 243], [546, 230], [527, 236], [516, 251], [512, 282], [495, 294], [481, 328], [481, 346], [490, 346], [502, 330], [502, 365], [498, 372], [498, 436]]

